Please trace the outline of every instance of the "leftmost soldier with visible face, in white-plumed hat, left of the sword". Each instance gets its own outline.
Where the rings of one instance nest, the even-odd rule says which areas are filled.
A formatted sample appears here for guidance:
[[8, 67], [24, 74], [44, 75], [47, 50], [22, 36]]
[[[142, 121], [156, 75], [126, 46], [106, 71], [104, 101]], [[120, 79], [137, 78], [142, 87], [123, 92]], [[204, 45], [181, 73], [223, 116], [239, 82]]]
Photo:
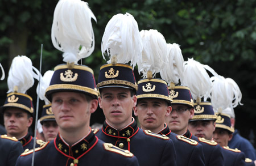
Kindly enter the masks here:
[[[31, 149], [34, 138], [28, 132], [28, 128], [33, 122], [34, 106], [32, 98], [26, 94], [26, 91], [33, 86], [34, 76], [29, 58], [17, 56], [13, 59], [7, 84], [9, 91], [5, 104], [1, 107], [7, 135], [16, 137], [22, 143], [24, 150]], [[36, 147], [43, 143], [40, 140], [36, 142]]]

